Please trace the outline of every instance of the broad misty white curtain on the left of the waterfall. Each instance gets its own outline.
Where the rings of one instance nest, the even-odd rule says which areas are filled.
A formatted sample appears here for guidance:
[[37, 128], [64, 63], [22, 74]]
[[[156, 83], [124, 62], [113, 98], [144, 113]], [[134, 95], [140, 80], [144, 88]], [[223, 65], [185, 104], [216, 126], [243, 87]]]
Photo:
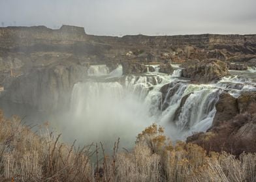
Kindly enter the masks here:
[[112, 144], [120, 137], [126, 147], [153, 122], [139, 96], [118, 82], [76, 83], [70, 116], [69, 130], [76, 132], [78, 140]]

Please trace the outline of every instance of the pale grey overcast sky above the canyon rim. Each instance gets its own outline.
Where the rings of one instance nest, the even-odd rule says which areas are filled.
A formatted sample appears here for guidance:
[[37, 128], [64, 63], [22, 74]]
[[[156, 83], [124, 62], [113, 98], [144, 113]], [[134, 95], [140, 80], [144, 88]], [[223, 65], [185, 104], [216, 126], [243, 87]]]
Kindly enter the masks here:
[[9, 25], [84, 27], [88, 34], [256, 33], [256, 0], [0, 0]]

